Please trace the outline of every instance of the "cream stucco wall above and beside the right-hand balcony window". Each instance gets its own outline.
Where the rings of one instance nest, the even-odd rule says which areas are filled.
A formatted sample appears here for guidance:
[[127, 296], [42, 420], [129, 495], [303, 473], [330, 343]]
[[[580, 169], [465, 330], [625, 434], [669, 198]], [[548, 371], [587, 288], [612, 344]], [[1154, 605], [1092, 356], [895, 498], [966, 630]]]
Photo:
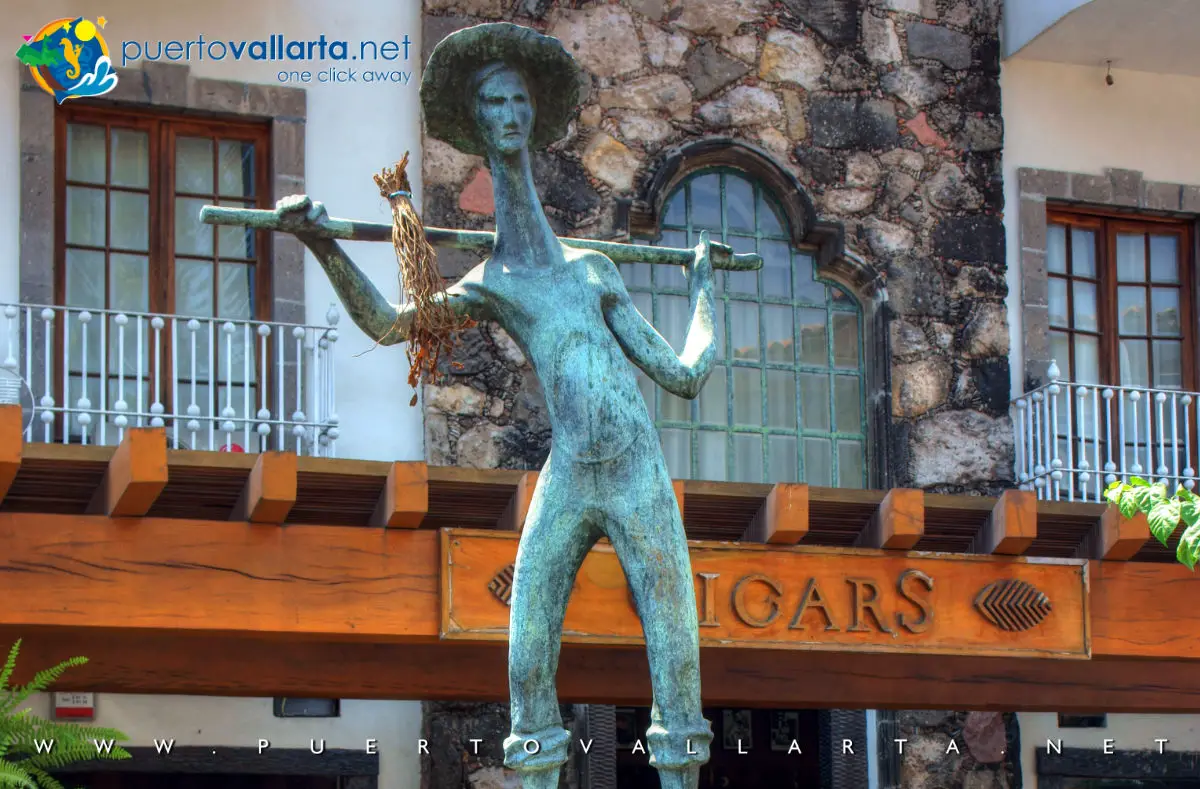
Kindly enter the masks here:
[[1021, 247], [1016, 170], [1022, 167], [1100, 175], [1141, 170], [1147, 180], [1200, 185], [1200, 79], [1034, 60], [1001, 70], [1004, 116], [1004, 227], [1012, 384], [1022, 385]]

